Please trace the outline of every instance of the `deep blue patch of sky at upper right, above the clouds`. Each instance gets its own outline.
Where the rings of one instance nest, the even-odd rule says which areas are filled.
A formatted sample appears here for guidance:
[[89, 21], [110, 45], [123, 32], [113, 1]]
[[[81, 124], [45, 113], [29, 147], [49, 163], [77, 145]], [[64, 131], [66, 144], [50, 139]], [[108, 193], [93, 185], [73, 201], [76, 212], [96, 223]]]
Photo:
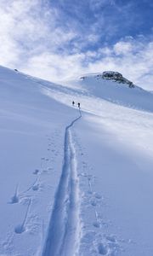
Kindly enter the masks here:
[[65, 23], [65, 28], [69, 30], [72, 26], [77, 31], [78, 41], [84, 41], [90, 34], [98, 37], [96, 42], [86, 42], [82, 50], [112, 45], [127, 36], [143, 34], [147, 37], [152, 29], [151, 1], [50, 1], [52, 7], [59, 10], [60, 26]]

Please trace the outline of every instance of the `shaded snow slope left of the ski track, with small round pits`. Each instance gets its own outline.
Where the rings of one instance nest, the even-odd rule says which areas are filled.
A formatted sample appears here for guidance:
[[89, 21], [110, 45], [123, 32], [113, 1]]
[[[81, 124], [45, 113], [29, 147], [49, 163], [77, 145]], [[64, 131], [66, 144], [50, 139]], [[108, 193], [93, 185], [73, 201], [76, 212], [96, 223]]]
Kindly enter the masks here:
[[0, 252], [39, 255], [59, 183], [65, 126], [78, 113], [43, 96], [20, 73], [1, 67], [0, 80]]

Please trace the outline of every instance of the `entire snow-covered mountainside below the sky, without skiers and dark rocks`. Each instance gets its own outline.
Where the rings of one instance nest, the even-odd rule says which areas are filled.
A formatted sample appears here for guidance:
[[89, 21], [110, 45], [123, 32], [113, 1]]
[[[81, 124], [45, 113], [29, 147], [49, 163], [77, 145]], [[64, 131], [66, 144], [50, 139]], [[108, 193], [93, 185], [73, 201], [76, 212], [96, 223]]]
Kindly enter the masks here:
[[1, 256], [153, 255], [153, 94], [0, 67], [0, 123]]

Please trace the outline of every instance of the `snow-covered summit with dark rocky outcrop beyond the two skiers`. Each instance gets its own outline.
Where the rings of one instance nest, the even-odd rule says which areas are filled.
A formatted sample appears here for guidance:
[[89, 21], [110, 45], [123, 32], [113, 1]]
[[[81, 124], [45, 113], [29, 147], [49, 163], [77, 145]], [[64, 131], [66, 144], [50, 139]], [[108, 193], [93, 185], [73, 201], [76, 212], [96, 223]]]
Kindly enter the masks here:
[[153, 94], [134, 85], [121, 73], [111, 71], [89, 73], [66, 81], [65, 84], [71, 88], [82, 90], [90, 96], [96, 96], [117, 105], [153, 111]]

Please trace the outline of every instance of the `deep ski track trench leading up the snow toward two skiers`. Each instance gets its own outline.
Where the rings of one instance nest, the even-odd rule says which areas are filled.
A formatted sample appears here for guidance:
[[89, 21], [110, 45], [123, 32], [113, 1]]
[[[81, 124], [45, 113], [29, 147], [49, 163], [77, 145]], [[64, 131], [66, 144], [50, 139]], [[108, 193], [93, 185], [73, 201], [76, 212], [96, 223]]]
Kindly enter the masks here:
[[80, 109], [79, 113], [79, 117], [65, 128], [64, 162], [42, 256], [78, 255], [80, 241], [79, 184], [71, 127], [82, 117]]

